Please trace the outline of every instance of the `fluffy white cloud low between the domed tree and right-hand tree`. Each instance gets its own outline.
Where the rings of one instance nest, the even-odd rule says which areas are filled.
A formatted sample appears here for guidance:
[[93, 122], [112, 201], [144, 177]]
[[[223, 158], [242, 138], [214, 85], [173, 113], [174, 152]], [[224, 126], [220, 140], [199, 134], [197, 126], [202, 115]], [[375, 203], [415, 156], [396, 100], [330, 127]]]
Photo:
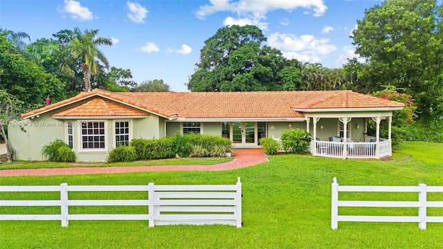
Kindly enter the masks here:
[[329, 44], [329, 39], [317, 39], [314, 35], [274, 33], [268, 37], [268, 45], [282, 51], [288, 59], [302, 62], [321, 62], [320, 56], [334, 52], [337, 48]]

